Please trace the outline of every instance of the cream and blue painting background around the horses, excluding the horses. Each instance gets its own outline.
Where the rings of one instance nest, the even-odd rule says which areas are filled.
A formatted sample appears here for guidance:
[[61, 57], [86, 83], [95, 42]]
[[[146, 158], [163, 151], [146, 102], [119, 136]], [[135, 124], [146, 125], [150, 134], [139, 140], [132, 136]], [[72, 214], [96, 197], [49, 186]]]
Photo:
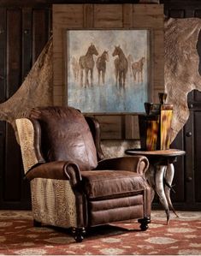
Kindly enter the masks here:
[[[148, 100], [148, 80], [150, 63], [150, 46], [148, 30], [70, 30], [67, 32], [68, 49], [68, 105], [82, 112], [145, 112], [144, 103]], [[80, 77], [74, 79], [72, 60], [79, 62], [88, 47], [94, 44], [98, 57], [103, 51], [109, 52], [109, 62], [106, 63], [104, 85], [98, 85], [98, 70], [93, 68], [93, 86], [80, 86]], [[132, 55], [132, 63], [145, 57], [143, 67], [143, 82], [133, 79], [130, 70], [127, 71], [125, 89], [115, 86], [115, 58], [112, 53], [115, 45], [120, 45], [125, 56]], [[93, 56], [96, 63], [97, 58]], [[85, 79], [85, 77], [84, 77]]]

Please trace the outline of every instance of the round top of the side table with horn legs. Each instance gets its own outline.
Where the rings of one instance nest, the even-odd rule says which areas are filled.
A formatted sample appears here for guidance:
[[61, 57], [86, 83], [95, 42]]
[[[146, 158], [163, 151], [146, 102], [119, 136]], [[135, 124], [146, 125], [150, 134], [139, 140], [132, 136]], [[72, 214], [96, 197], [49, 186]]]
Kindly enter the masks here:
[[160, 157], [177, 157], [185, 155], [186, 152], [180, 149], [167, 149], [167, 150], [154, 150], [154, 151], [143, 151], [140, 148], [131, 148], [125, 151], [127, 155], [144, 155], [144, 156], [160, 156]]

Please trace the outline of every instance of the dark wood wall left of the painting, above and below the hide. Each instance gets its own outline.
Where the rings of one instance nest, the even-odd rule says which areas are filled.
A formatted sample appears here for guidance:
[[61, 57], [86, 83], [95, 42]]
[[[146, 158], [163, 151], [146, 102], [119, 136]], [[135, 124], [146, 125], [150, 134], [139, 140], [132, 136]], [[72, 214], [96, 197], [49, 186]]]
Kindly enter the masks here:
[[[0, 3], [0, 103], [21, 86], [51, 31], [49, 7]], [[30, 207], [20, 146], [8, 122], [0, 122], [0, 209]]]

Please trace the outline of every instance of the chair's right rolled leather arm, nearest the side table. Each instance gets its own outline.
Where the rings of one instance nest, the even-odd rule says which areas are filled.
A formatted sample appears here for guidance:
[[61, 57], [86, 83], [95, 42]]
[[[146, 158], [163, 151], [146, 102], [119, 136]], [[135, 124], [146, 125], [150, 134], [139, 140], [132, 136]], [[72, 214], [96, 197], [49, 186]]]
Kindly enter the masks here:
[[144, 175], [149, 168], [149, 161], [144, 156], [109, 158], [98, 162], [96, 170], [130, 170]]

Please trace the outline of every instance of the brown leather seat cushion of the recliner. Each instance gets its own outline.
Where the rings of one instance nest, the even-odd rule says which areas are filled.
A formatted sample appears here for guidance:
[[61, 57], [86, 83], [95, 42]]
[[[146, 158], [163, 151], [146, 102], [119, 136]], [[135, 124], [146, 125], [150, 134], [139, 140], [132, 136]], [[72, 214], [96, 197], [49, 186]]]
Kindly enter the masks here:
[[90, 199], [118, 198], [142, 193], [145, 177], [126, 170], [82, 171], [83, 189]]

